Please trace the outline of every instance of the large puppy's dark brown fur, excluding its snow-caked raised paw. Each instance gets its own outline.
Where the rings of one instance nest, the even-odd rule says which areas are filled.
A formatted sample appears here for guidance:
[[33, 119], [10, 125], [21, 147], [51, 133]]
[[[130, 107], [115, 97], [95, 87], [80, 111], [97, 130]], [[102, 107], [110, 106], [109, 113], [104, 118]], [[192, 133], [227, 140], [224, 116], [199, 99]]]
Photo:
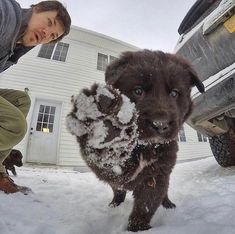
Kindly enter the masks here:
[[[149, 50], [124, 53], [108, 66], [105, 79], [136, 104], [139, 137], [148, 144], [136, 146], [131, 158], [122, 166], [121, 175], [97, 167], [94, 162], [87, 161], [87, 164], [99, 179], [112, 187], [111, 205], [120, 205], [126, 191], [133, 191], [134, 207], [128, 230], [146, 230], [161, 204], [165, 208], [175, 207], [167, 191], [178, 151], [176, 137], [192, 110], [192, 86], [196, 85], [200, 92], [204, 87], [187, 62], [172, 54]], [[96, 86], [93, 86], [92, 90], [84, 92], [93, 95], [95, 91]], [[106, 110], [111, 106], [105, 101], [100, 105]], [[87, 139], [78, 140], [86, 160]], [[141, 166], [142, 170], [136, 173]]]

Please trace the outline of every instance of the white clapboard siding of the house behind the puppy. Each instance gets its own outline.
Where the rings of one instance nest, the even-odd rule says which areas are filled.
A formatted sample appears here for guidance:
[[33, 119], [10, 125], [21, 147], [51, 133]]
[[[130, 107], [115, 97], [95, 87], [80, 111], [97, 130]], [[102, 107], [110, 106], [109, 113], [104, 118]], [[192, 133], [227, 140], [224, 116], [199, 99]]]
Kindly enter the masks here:
[[[54, 100], [62, 104], [60, 131], [57, 147], [57, 165], [83, 166], [79, 147], [74, 136], [65, 128], [65, 117], [70, 112], [71, 95], [94, 82], [104, 82], [104, 72], [97, 70], [98, 53], [118, 57], [123, 51], [135, 51], [137, 47], [111, 37], [73, 26], [62, 42], [69, 44], [65, 62], [37, 57], [40, 46], [23, 56], [18, 65], [0, 74], [0, 87], [29, 90], [32, 100], [27, 121], [30, 125], [36, 98]], [[210, 154], [208, 143], [197, 141], [196, 132], [185, 128], [186, 138], [180, 142], [179, 158], [203, 157]], [[27, 161], [29, 131], [16, 146]]]

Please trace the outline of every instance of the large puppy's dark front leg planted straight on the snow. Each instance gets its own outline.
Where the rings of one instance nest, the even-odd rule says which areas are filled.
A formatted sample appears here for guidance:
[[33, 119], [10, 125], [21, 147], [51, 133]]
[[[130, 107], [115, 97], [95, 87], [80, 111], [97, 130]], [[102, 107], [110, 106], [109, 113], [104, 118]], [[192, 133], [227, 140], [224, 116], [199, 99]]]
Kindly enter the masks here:
[[134, 207], [128, 221], [128, 231], [151, 228], [150, 221], [167, 193], [168, 176], [149, 177], [133, 192]]

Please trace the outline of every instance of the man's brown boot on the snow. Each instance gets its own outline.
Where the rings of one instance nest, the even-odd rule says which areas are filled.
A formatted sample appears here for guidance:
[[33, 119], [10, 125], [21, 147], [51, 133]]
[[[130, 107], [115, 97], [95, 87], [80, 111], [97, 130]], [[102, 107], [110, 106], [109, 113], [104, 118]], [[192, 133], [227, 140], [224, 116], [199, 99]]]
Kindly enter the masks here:
[[30, 188], [24, 186], [18, 186], [14, 183], [6, 173], [0, 172], [0, 191], [5, 193], [17, 193], [21, 192], [24, 195], [27, 195], [29, 192], [32, 192]]

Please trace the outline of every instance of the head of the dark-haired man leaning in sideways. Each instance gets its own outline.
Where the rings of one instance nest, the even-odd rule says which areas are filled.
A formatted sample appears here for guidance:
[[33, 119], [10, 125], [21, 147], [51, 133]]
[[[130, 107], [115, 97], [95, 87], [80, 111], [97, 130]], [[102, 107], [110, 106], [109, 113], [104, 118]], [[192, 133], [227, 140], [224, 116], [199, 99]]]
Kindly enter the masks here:
[[60, 41], [70, 31], [71, 18], [58, 1], [42, 1], [31, 5], [32, 17], [20, 40], [24, 46], [36, 46]]

